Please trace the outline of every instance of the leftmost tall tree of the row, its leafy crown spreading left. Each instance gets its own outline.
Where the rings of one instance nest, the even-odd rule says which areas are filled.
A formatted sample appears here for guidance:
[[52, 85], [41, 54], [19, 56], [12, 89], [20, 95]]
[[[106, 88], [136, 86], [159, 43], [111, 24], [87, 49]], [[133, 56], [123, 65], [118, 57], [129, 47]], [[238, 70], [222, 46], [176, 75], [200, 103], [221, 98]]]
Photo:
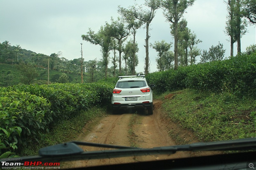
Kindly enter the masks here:
[[101, 46], [102, 58], [105, 66], [105, 78], [107, 78], [108, 74], [108, 52], [112, 49], [112, 37], [109, 35], [107, 29], [108, 26], [101, 26], [98, 33], [94, 33], [94, 31], [89, 28], [87, 34], [81, 36], [84, 41]]

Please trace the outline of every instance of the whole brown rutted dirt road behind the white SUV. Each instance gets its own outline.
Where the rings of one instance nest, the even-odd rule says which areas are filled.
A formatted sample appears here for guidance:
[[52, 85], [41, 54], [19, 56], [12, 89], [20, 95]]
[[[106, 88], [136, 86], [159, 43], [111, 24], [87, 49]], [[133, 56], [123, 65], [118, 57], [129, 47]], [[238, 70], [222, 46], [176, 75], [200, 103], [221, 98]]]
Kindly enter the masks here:
[[[154, 101], [153, 115], [147, 115], [147, 111], [136, 114], [121, 113], [118, 115], [106, 115], [100, 121], [92, 122], [92, 124], [94, 123], [96, 126], [94, 126], [90, 132], [85, 128], [84, 133], [81, 133], [76, 140], [100, 144], [137, 146], [142, 148], [175, 145], [175, 142], [169, 137], [168, 129], [166, 128], [166, 124], [168, 124], [168, 122], [166, 122], [166, 119], [160, 114], [160, 106], [161, 101]], [[100, 150], [102, 148], [86, 146], [82, 149], [84, 149], [84, 151], [93, 151]], [[80, 160], [66, 162], [64, 164], [64, 168], [172, 159], [189, 156], [189, 152], [178, 152], [172, 155]]]

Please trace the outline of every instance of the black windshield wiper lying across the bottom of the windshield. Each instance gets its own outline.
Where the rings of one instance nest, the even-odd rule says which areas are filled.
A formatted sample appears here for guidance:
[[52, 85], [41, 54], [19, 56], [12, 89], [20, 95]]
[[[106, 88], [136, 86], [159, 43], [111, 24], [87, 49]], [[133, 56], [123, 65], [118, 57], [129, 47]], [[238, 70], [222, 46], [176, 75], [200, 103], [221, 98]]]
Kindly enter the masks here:
[[[84, 152], [78, 145], [112, 148], [113, 150], [100, 150]], [[136, 148], [109, 144], [94, 144], [88, 142], [68, 142], [56, 144], [39, 150], [39, 156], [22, 157], [22, 161], [71, 161], [81, 159], [105, 159], [127, 156], [142, 156], [153, 154], [173, 154], [177, 151], [242, 151], [256, 150], [256, 137], [228, 141], [194, 143], [185, 145], [163, 146], [155, 148]], [[14, 162], [6, 161], [6, 162]], [[19, 160], [15, 162], [21, 162]]]

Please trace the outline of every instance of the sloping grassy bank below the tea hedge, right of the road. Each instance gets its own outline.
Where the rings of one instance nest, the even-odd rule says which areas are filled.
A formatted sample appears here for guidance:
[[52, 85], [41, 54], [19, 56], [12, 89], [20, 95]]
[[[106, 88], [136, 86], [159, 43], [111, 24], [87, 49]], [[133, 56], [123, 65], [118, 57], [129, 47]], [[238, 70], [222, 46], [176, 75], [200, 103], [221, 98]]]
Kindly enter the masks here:
[[174, 122], [194, 132], [201, 142], [256, 136], [256, 101], [230, 93], [185, 89], [161, 94], [163, 108]]

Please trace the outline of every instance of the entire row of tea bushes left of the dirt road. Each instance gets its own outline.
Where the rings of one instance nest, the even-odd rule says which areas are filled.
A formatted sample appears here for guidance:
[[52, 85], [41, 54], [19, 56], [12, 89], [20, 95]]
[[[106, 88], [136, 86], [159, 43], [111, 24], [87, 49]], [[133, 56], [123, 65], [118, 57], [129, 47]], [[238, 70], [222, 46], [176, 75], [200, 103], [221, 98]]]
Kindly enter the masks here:
[[81, 110], [111, 103], [114, 86], [102, 81], [0, 88], [0, 156], [39, 139], [54, 123], [68, 120]]

